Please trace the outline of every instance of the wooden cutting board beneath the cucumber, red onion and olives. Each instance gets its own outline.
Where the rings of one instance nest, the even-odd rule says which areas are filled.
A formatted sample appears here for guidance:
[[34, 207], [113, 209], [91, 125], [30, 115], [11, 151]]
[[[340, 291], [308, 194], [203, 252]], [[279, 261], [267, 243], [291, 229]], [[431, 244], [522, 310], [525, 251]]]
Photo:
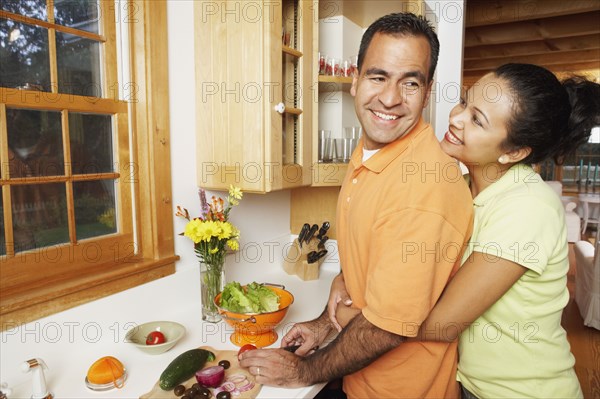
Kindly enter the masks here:
[[[227, 378], [232, 375], [243, 374], [246, 376], [248, 381], [252, 381], [255, 384], [251, 390], [245, 391], [245, 392], [240, 392], [240, 395], [238, 395], [238, 396], [235, 396], [232, 394], [231, 395], [232, 399], [238, 399], [238, 398], [239, 399], [254, 399], [258, 396], [258, 393], [260, 392], [260, 388], [262, 387], [262, 385], [256, 383], [256, 381], [254, 380], [254, 376], [252, 374], [250, 374], [248, 369], [240, 367], [240, 363], [237, 359], [237, 351], [231, 351], [231, 350], [220, 351], [220, 350], [213, 349], [210, 346], [201, 346], [200, 349], [206, 349], [208, 351], [211, 351], [212, 353], [215, 354], [215, 357], [216, 357], [216, 359], [213, 360], [212, 362], [207, 362], [204, 365], [205, 368], [210, 367], [210, 366], [217, 366], [221, 360], [228, 360], [229, 363], [231, 364], [231, 367], [229, 367], [227, 370], [225, 370], [225, 380], [227, 380]], [[167, 367], [167, 366], [165, 365], [165, 367]], [[192, 377], [189, 380], [185, 381], [183, 383], [183, 385], [185, 385], [186, 388], [190, 388], [192, 386], [192, 384], [194, 384], [194, 383], [196, 383], [196, 377]], [[211, 391], [214, 392], [214, 390], [211, 390]], [[215, 395], [213, 395], [212, 397], [214, 398]], [[154, 384], [154, 387], [152, 388], [152, 390], [150, 392], [140, 396], [140, 399], [175, 399], [175, 398], [178, 398], [178, 397], [175, 396], [175, 393], [173, 393], [173, 390], [163, 391], [158, 386], [158, 381], [156, 382], [156, 384]]]

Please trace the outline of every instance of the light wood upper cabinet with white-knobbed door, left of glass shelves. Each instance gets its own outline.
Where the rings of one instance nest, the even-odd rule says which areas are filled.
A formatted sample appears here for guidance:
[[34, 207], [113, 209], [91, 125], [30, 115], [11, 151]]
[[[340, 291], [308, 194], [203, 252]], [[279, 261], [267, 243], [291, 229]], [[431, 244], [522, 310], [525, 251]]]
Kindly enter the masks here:
[[305, 0], [195, 3], [199, 186], [310, 185], [317, 10]]

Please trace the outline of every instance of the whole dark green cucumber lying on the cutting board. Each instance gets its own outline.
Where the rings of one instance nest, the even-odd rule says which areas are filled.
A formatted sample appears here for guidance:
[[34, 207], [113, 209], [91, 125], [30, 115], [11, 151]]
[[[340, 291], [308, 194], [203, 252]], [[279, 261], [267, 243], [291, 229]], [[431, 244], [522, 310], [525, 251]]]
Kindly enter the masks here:
[[215, 354], [205, 349], [191, 349], [177, 356], [158, 380], [160, 389], [168, 391], [191, 378], [206, 362], [215, 360]]

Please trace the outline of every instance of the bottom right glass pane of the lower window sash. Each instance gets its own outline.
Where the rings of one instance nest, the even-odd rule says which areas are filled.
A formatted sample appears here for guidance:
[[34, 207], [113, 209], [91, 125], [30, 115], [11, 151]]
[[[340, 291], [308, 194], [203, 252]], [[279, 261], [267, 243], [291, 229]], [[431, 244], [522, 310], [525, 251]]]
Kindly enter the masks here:
[[117, 232], [114, 180], [73, 183], [77, 239]]

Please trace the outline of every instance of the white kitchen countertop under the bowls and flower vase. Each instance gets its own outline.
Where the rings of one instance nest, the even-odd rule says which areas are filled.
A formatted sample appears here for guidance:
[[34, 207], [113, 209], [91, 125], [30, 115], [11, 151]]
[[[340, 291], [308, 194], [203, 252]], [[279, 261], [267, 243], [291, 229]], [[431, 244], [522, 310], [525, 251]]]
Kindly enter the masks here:
[[[281, 248], [281, 249], [277, 249]], [[318, 280], [302, 281], [282, 269], [285, 245], [271, 245], [260, 257], [230, 255], [226, 261], [227, 281], [252, 281], [285, 285], [295, 297], [283, 322], [276, 329], [279, 340], [296, 322], [318, 316], [323, 310], [331, 280], [339, 272], [337, 246], [327, 242], [328, 255]], [[258, 259], [257, 259], [258, 258]], [[46, 383], [55, 398], [138, 398], [150, 391], [164, 368], [182, 352], [199, 346], [237, 350], [229, 341], [233, 329], [224, 321], [202, 321], [200, 277], [195, 265], [139, 287], [36, 320], [0, 334], [0, 383], [13, 390], [9, 398], [31, 396], [31, 374], [20, 365], [41, 358], [48, 365]], [[132, 327], [153, 320], [183, 324], [186, 335], [160, 355], [148, 355], [125, 343]], [[90, 365], [103, 356], [114, 356], [125, 366], [128, 378], [123, 389], [94, 392], [84, 379]], [[312, 398], [322, 384], [283, 389], [263, 386], [258, 398]]]

